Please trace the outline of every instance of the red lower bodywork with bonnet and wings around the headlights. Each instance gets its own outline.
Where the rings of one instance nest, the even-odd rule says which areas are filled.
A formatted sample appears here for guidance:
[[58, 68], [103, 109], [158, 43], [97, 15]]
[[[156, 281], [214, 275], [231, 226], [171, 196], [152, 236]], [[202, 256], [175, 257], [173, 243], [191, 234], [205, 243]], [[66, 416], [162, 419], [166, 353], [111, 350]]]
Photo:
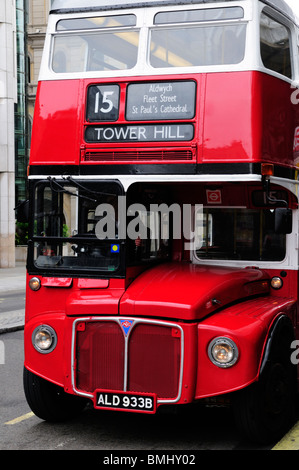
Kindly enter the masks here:
[[[141, 322], [146, 318], [153, 322], [152, 327], [157, 323], [158, 328], [171, 324], [170, 336], [174, 336], [176, 340], [183, 337], [184, 341], [180, 346], [169, 346], [170, 351], [165, 356], [167, 362], [164, 366], [161, 365], [161, 358], [166, 352], [162, 349], [162, 343], [159, 343], [159, 332], [155, 342], [149, 339], [147, 343], [143, 339], [142, 344], [135, 346], [137, 353], [135, 356], [132, 353], [135, 360], [132, 359], [131, 370], [147, 370], [148, 367], [156, 383], [148, 384], [144, 379], [144, 387], [147, 388], [143, 389], [140, 385], [141, 389], [136, 390], [135, 385], [133, 390], [155, 392], [156, 388], [151, 390], [148, 387], [156, 386], [158, 390], [162, 387], [162, 402], [165, 400], [164, 377], [171, 369], [170, 353], [175, 347], [178, 361], [183, 355], [183, 364], [181, 369], [173, 372], [176, 376], [175, 380], [172, 376], [174, 388], [171, 397], [166, 399], [186, 403], [237, 390], [256, 380], [272, 322], [281, 313], [287, 314], [293, 321], [296, 315], [295, 299], [270, 296], [269, 274], [252, 268], [217, 268], [177, 263], [161, 265], [137, 277], [127, 289], [124, 280], [113, 279], [100, 280], [98, 286], [93, 280], [59, 278], [52, 278], [51, 281], [44, 278], [42, 284], [43, 287], [38, 292], [30, 289], [27, 291], [25, 336], [31, 338], [35, 327], [46, 323], [55, 329], [59, 340], [55, 350], [46, 356], [38, 353], [31, 341], [27, 341], [25, 365], [34, 373], [65, 387], [70, 393], [92, 393], [97, 367], [101, 367], [101, 374], [103, 371], [104, 374], [109, 372], [108, 384], [105, 382], [105, 387], [102, 388], [119, 389], [121, 386], [119, 375], [114, 377], [113, 373], [116, 371], [119, 374], [120, 363], [123, 362], [119, 341], [122, 338], [121, 331], [115, 333], [113, 352], [109, 351], [109, 345], [103, 346], [98, 356], [106, 359], [96, 366], [90, 364], [90, 358], [93, 357], [96, 361], [98, 347], [92, 340], [86, 339], [88, 357], [86, 362], [82, 360], [80, 367], [76, 369], [75, 379], [72, 379], [72, 355], [73, 359], [76, 355], [72, 350], [73, 342], [77, 338], [77, 329], [80, 332], [85, 331], [86, 325], [90, 328], [88, 338], [93, 335], [96, 338], [100, 334], [100, 331], [97, 333], [97, 325], [106, 324], [107, 321], [111, 323], [113, 317], [118, 316], [135, 321], [139, 319]], [[180, 330], [175, 331], [176, 326]], [[107, 331], [110, 329], [111, 325]], [[104, 332], [105, 335], [107, 331]], [[145, 337], [148, 337], [147, 334], [145, 333]], [[231, 369], [219, 369], [208, 358], [208, 344], [216, 336], [230, 337], [241, 351], [238, 363]], [[164, 345], [163, 341], [163, 348]], [[153, 354], [153, 348], [156, 354]], [[145, 351], [148, 357], [145, 357]], [[113, 359], [107, 360], [110, 355]], [[139, 357], [142, 358], [142, 365], [138, 363]], [[80, 371], [84, 368], [88, 373], [82, 378]], [[79, 385], [77, 387], [77, 382], [83, 389]], [[138, 377], [135, 382], [142, 384], [143, 380]]]

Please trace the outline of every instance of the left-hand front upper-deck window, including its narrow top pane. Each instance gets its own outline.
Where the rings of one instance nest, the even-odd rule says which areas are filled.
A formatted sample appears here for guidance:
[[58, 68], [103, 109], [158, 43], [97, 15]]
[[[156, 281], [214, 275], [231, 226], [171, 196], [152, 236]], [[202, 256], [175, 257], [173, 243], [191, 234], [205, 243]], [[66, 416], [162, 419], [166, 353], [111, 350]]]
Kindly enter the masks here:
[[[135, 15], [60, 20], [54, 37], [56, 73], [127, 70], [136, 65], [139, 31]], [[129, 27], [129, 28], [128, 28]]]

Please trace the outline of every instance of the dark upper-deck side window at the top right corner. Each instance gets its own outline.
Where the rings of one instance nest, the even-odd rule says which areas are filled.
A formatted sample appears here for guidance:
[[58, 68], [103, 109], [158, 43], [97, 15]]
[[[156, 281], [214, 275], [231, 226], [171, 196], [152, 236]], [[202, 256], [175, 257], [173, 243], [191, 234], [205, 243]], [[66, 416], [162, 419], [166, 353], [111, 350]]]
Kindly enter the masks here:
[[290, 31], [286, 26], [262, 12], [261, 58], [267, 69], [292, 78]]

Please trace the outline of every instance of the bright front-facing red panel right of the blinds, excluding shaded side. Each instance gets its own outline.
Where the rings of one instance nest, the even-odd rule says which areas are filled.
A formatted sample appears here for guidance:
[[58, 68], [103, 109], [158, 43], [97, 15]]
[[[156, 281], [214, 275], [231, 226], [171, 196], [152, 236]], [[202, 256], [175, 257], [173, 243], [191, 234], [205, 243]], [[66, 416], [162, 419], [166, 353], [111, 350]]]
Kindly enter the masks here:
[[203, 163], [257, 161], [261, 124], [255, 74], [207, 74], [205, 96]]

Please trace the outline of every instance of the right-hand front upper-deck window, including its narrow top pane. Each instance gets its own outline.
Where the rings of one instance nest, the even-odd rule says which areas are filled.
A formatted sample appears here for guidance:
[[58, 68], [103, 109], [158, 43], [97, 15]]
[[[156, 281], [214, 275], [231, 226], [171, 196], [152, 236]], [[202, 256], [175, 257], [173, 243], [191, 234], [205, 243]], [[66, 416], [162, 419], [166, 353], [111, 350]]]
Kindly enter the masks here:
[[159, 12], [151, 33], [150, 64], [155, 68], [238, 64], [245, 54], [243, 18], [241, 7]]

